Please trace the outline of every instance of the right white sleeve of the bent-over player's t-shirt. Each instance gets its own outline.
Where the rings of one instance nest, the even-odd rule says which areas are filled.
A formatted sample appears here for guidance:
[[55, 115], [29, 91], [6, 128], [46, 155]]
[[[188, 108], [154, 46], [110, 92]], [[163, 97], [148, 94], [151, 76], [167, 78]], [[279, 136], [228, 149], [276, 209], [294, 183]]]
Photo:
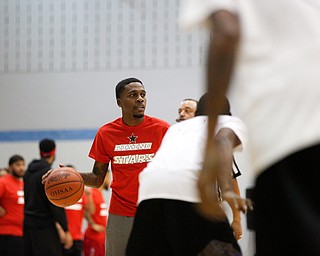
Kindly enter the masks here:
[[231, 129], [239, 138], [241, 144], [238, 145], [234, 151], [242, 151], [246, 147], [248, 142], [248, 129], [240, 118], [227, 115], [219, 116], [217, 132], [222, 128]]

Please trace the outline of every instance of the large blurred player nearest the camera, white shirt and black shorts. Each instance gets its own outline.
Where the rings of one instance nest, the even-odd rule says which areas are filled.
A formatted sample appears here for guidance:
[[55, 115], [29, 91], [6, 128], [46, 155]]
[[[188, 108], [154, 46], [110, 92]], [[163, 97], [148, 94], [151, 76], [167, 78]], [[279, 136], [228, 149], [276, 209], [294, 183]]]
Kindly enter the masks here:
[[[228, 91], [250, 131], [257, 255], [320, 255], [320, 2], [185, 2], [181, 23], [212, 34], [209, 130]], [[209, 189], [223, 179], [215, 151], [209, 133], [199, 187], [202, 210], [212, 217]]]

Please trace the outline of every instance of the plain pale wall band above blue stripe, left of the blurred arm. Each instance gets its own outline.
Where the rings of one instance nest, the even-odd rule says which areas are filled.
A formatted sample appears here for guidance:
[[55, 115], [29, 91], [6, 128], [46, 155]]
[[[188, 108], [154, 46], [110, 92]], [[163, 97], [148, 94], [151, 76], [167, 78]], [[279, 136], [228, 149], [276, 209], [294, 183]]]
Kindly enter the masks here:
[[142, 80], [146, 113], [174, 122], [185, 97], [204, 90], [201, 68], [0, 75], [1, 130], [96, 128], [121, 114], [115, 86]]

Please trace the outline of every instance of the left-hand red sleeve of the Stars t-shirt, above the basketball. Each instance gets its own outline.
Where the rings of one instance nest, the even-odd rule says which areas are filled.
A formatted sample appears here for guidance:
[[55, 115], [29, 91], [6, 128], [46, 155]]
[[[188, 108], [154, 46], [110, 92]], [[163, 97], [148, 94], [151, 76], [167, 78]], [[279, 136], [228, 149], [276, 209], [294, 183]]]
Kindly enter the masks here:
[[105, 139], [103, 139], [101, 130], [99, 130], [92, 143], [89, 157], [93, 158], [99, 163], [109, 163], [110, 157], [108, 156], [107, 149], [105, 146]]

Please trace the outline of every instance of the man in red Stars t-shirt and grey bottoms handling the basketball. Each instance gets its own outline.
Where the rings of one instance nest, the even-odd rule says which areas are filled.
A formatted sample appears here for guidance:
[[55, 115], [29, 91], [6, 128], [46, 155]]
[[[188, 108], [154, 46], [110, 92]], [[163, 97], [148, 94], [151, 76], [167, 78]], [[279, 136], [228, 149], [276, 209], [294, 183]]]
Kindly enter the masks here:
[[85, 185], [100, 187], [111, 164], [107, 255], [123, 256], [137, 209], [138, 175], [157, 152], [169, 124], [144, 114], [146, 91], [139, 79], [124, 79], [115, 91], [122, 117], [99, 129], [89, 153], [95, 160], [93, 171], [81, 175]]

